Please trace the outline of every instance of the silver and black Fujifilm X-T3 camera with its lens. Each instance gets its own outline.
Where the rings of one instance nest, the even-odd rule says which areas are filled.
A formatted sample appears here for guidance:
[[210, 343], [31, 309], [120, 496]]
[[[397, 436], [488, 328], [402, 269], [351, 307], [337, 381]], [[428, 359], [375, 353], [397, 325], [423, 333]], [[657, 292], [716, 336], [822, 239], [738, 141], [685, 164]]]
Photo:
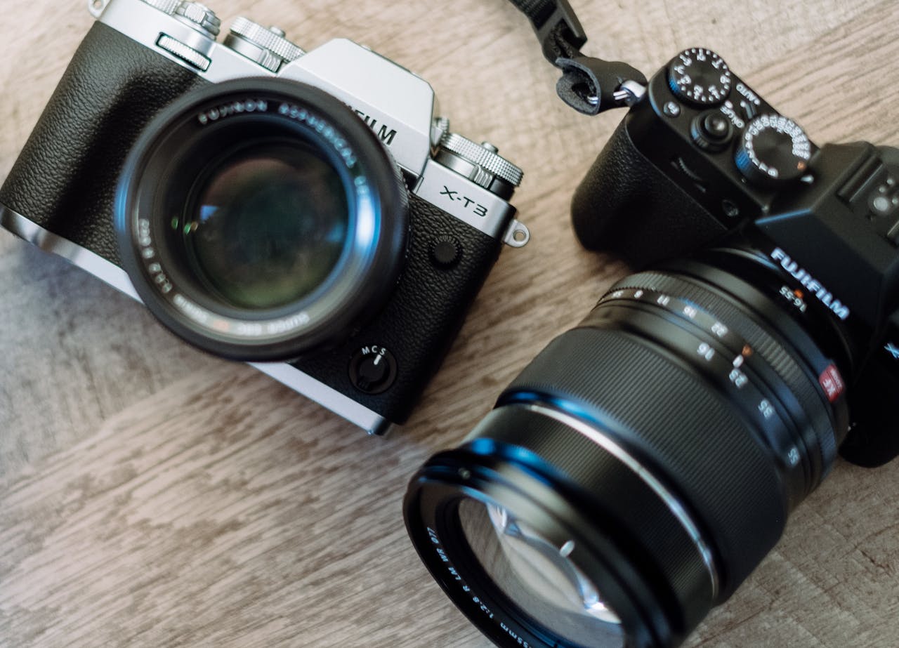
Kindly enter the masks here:
[[200, 349], [370, 433], [405, 422], [503, 243], [521, 170], [350, 40], [180, 0], [98, 19], [0, 190], [0, 224]]

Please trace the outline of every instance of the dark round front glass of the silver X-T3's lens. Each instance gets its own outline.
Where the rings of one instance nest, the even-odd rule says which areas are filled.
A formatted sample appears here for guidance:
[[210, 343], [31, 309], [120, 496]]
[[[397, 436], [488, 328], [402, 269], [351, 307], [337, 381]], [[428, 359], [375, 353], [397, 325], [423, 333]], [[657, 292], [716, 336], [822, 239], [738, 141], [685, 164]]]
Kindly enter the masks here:
[[182, 229], [191, 270], [230, 306], [270, 309], [307, 297], [343, 253], [350, 222], [340, 173], [297, 141], [218, 158]]

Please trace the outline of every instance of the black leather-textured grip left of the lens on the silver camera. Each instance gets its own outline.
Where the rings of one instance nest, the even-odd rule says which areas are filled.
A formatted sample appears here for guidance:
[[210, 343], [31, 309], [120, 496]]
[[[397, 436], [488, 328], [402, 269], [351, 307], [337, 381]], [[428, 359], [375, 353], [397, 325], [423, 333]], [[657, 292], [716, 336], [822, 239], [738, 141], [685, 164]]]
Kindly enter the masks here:
[[0, 203], [120, 265], [112, 213], [125, 156], [157, 111], [207, 83], [95, 22], [0, 189]]

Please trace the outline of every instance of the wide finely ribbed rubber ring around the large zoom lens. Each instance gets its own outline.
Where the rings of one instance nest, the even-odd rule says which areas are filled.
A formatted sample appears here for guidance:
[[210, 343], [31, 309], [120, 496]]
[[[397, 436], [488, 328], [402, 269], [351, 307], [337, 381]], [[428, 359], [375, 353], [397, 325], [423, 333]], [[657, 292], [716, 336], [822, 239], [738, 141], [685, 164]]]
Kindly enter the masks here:
[[[788, 502], [768, 448], [702, 377], [664, 354], [618, 331], [574, 329], [551, 342], [500, 402], [528, 397], [575, 412], [603, 434], [615, 435], [647, 471], [669, 485], [714, 542], [723, 596], [780, 537]], [[582, 480], [585, 491], [593, 489], [593, 496], [604, 500], [609, 475], [589, 467], [602, 465], [602, 451], [587, 448], [584, 468], [569, 477]], [[557, 467], [567, 475], [569, 466]], [[635, 519], [645, 507], [639, 499], [633, 502]]]

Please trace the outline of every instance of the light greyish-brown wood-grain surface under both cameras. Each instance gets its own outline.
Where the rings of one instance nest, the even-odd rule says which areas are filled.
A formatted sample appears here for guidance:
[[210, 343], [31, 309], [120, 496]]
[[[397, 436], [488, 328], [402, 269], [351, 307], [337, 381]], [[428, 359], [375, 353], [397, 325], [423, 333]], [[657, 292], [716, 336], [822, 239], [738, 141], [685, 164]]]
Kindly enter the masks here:
[[[91, 17], [4, 4], [0, 179]], [[818, 143], [899, 144], [899, 7], [855, 0], [575, 2], [587, 52], [651, 73], [717, 49]], [[217, 0], [423, 75], [453, 129], [526, 171], [507, 249], [408, 425], [370, 439], [252, 368], [192, 351], [142, 306], [0, 233], [0, 644], [489, 645], [403, 528], [408, 477], [460, 439], [627, 269], [574, 241], [568, 201], [621, 112], [585, 118], [501, 0]], [[838, 463], [690, 646], [899, 645], [899, 466]]]

